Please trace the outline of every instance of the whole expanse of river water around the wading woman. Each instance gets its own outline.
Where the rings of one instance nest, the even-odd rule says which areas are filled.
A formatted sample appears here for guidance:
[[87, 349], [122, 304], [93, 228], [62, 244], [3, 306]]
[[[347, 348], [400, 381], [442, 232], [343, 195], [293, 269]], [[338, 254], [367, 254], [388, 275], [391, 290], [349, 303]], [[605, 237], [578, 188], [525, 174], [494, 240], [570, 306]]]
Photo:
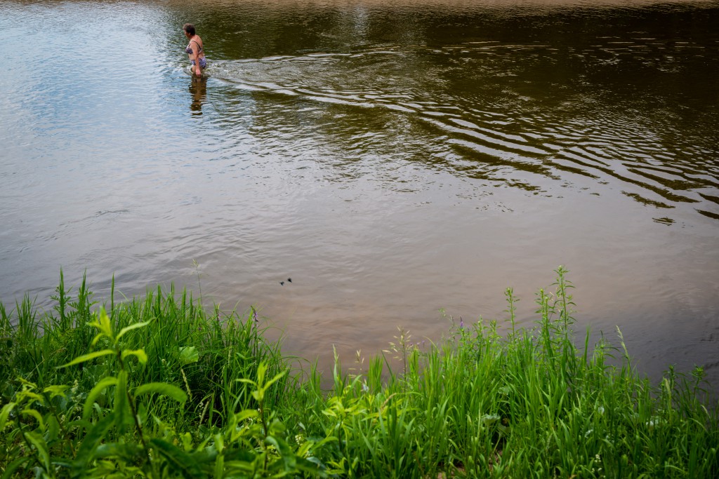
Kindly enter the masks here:
[[580, 331], [719, 381], [718, 1], [4, 0], [0, 29], [4, 302], [199, 274], [351, 363], [506, 287], [531, 325], [563, 264]]

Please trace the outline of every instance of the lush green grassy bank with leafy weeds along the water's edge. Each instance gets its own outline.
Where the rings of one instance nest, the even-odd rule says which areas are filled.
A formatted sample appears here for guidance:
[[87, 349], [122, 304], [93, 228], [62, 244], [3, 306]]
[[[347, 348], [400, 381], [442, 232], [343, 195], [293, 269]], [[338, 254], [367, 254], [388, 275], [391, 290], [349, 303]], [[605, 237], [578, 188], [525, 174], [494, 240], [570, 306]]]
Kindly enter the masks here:
[[0, 474], [719, 477], [702, 371], [652, 387], [620, 333], [617, 348], [577, 340], [557, 275], [533, 327], [508, 289], [501, 327], [461, 322], [421, 348], [402, 330], [366, 365], [337, 360], [329, 391], [316, 368], [289, 368], [254, 311], [159, 287], [99, 305], [61, 276], [51, 311], [0, 304]]

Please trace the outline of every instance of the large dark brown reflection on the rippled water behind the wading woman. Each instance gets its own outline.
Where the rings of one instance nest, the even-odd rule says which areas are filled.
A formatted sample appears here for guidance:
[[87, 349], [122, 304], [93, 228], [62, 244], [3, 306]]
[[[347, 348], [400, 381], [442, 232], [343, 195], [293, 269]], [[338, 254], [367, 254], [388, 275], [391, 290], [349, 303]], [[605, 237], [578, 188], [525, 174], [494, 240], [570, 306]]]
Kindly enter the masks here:
[[413, 113], [407, 156], [454, 174], [543, 193], [511, 172], [582, 175], [717, 217], [715, 4], [210, 5], [218, 78]]

